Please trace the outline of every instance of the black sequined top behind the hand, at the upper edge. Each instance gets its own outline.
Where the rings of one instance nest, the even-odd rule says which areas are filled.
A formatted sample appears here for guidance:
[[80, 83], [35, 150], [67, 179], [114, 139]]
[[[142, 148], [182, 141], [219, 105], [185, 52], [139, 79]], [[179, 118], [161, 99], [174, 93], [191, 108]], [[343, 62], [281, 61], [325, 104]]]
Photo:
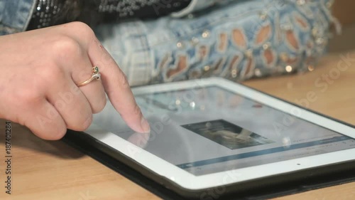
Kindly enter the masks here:
[[191, 0], [37, 0], [28, 30], [82, 21], [89, 26], [125, 19], [152, 19], [180, 11]]

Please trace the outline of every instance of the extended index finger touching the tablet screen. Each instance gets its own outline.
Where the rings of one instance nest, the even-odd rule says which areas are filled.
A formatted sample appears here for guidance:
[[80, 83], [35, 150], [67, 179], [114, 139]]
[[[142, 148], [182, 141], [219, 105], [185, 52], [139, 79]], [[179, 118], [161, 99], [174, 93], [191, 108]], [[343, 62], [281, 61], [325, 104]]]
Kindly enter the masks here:
[[143, 117], [126, 75], [119, 68], [119, 65], [97, 39], [89, 44], [88, 53], [92, 64], [99, 67], [104, 90], [123, 120], [136, 132], [150, 132], [151, 127]]

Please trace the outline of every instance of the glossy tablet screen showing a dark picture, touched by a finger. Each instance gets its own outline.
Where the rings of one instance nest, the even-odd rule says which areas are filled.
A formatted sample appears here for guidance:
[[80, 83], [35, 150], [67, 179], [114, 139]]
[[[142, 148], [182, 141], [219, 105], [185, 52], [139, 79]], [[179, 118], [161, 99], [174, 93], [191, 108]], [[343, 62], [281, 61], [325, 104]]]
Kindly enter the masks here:
[[150, 134], [133, 132], [111, 104], [94, 122], [200, 176], [355, 147], [351, 137], [219, 86], [136, 95]]

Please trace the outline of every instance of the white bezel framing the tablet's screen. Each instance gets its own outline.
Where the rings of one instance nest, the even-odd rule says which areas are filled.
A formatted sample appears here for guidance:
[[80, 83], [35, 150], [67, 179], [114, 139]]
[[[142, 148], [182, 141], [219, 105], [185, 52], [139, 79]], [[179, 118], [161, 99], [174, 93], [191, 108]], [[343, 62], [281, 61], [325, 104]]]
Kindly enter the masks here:
[[[223, 78], [187, 80], [179, 83], [166, 83], [159, 85], [159, 87], [156, 87], [156, 85], [147, 85], [139, 88], [133, 88], [133, 94], [139, 95], [158, 93], [170, 90], [206, 87], [210, 85], [225, 88], [226, 90], [230, 90], [231, 92], [237, 93], [245, 98], [261, 102], [264, 105], [273, 107], [295, 117], [300, 117], [301, 119], [320, 125], [329, 130], [334, 130], [335, 132], [355, 138], [354, 127], [349, 127], [340, 122], [317, 115], [314, 112], [291, 105], [283, 100], [278, 100], [277, 98], [273, 98], [269, 95], [252, 90], [244, 85], [233, 83]], [[160, 159], [154, 154], [131, 144], [131, 142], [122, 139], [114, 133], [103, 130], [94, 123], [85, 132], [104, 144], [107, 144], [109, 147], [118, 150], [127, 157], [130, 157], [134, 161], [142, 164], [144, 167], [150, 169], [156, 174], [170, 179], [170, 181], [175, 182], [175, 184], [180, 185], [182, 188], [190, 190], [208, 189], [227, 184], [234, 184], [241, 181], [269, 177], [277, 174], [294, 172], [300, 169], [309, 169], [312, 167], [320, 167], [327, 164], [346, 162], [355, 159], [355, 149], [347, 149], [339, 152], [331, 152], [300, 159], [290, 159], [283, 162], [263, 164], [255, 167], [195, 176], [173, 164], [170, 164], [169, 162], [166, 162], [163, 159]]]

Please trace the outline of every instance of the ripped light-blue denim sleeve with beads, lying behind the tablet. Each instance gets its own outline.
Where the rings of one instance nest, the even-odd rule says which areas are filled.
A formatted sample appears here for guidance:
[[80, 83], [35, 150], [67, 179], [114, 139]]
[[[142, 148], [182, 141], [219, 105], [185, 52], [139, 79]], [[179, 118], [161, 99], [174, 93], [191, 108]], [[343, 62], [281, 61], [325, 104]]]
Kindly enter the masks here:
[[131, 85], [220, 76], [234, 81], [313, 70], [335, 22], [332, 1], [239, 0], [193, 17], [95, 31]]

